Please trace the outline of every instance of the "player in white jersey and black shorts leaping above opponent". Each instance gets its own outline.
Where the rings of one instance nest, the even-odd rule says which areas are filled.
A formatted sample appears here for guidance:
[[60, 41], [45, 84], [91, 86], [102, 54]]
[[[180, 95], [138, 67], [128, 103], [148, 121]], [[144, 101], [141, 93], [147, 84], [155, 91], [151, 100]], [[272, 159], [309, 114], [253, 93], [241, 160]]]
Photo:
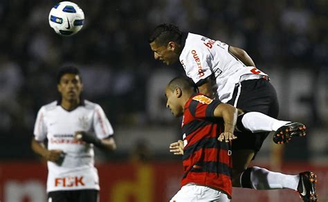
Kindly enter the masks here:
[[[178, 27], [170, 24], [157, 26], [149, 37], [149, 45], [155, 59], [167, 65], [180, 61], [186, 75], [197, 84], [201, 93], [246, 112], [262, 112], [270, 117], [277, 117], [279, 105], [275, 89], [269, 82], [268, 75], [255, 67], [244, 50], [199, 34], [181, 32]], [[216, 92], [213, 88], [217, 88]], [[264, 122], [259, 121], [255, 125], [262, 125]], [[286, 123], [283, 129], [274, 134], [275, 143], [286, 143], [293, 137], [304, 135], [304, 125], [300, 123]], [[257, 135], [236, 132], [236, 135], [238, 139], [233, 143], [234, 187], [270, 190], [284, 183], [291, 185], [291, 188], [295, 188], [295, 184], [297, 186], [299, 177], [281, 179], [280, 174], [264, 168], [248, 168], [268, 132]], [[273, 176], [275, 181], [271, 183], [269, 176]], [[310, 182], [315, 175], [304, 172], [300, 176], [301, 181]], [[284, 182], [277, 183], [278, 179]], [[303, 190], [306, 190], [306, 196], [302, 195]], [[302, 199], [316, 201], [314, 182], [304, 183], [304, 186], [298, 188], [298, 192]]]

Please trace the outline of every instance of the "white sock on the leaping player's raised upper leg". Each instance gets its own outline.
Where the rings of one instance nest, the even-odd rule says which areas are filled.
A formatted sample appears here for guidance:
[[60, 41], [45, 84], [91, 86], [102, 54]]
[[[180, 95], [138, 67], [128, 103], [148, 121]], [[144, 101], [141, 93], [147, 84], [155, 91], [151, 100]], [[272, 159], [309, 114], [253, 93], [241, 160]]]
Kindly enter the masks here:
[[270, 132], [276, 131], [278, 128], [282, 127], [282, 125], [291, 123], [291, 121], [280, 121], [273, 119], [272, 117], [262, 114], [261, 112], [248, 112], [244, 114], [242, 123], [244, 128], [250, 130], [251, 132]]

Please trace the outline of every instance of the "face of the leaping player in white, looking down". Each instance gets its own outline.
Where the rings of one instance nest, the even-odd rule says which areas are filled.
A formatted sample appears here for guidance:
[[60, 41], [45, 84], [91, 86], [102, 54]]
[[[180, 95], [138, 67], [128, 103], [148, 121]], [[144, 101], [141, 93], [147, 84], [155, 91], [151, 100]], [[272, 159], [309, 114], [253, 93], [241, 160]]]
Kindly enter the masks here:
[[179, 60], [179, 54], [176, 50], [176, 43], [169, 42], [167, 46], [157, 46], [155, 41], [149, 43], [154, 52], [154, 58], [163, 61], [166, 65], [171, 65]]

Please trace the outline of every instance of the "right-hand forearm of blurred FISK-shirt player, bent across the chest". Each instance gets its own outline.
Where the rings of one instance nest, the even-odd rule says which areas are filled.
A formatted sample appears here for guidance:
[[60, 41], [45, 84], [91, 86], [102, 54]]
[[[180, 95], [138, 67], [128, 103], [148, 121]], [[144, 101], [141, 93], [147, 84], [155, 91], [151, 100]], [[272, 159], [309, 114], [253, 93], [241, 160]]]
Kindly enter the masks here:
[[105, 150], [116, 150], [116, 143], [113, 137], [109, 137], [106, 139], [98, 139], [95, 134], [91, 134], [89, 132], [78, 131], [75, 132], [74, 138], [80, 141], [84, 141], [86, 143], [93, 143], [98, 148], [102, 148]]

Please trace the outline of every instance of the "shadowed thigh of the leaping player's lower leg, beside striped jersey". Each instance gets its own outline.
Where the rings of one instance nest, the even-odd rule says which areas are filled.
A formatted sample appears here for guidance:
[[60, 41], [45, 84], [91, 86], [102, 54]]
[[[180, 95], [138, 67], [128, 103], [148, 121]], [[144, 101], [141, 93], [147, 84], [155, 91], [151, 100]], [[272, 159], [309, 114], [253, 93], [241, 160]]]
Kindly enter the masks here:
[[239, 188], [240, 174], [248, 167], [252, 161], [254, 150], [234, 150], [233, 151], [233, 187]]

